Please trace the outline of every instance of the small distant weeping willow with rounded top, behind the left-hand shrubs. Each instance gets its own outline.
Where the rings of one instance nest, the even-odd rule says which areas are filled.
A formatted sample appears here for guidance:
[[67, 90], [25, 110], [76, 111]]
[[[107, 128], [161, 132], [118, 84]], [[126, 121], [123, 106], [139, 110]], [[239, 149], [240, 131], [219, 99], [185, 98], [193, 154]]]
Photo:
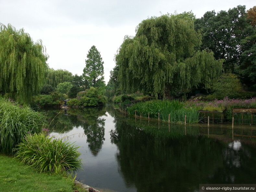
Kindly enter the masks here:
[[48, 69], [46, 71], [46, 84], [52, 87], [57, 87], [59, 83], [72, 82], [73, 78], [72, 73], [65, 69]]

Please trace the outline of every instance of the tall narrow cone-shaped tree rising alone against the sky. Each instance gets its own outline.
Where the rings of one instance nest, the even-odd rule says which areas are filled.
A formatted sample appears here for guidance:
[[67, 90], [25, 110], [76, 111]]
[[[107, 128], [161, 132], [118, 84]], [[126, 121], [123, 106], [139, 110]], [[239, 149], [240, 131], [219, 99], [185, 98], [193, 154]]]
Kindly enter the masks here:
[[91, 46], [91, 49], [88, 51], [85, 64], [83, 76], [88, 80], [89, 85], [92, 87], [104, 85], [104, 62], [102, 61], [100, 52], [94, 45]]

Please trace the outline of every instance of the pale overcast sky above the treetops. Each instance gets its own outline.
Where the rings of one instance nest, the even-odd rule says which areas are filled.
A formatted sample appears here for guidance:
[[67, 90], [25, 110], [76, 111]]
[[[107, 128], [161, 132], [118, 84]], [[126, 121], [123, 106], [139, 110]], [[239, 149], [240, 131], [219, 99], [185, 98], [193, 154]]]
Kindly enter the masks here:
[[0, 0], [0, 23], [24, 28], [33, 41], [41, 39], [54, 69], [81, 75], [89, 49], [95, 45], [104, 61], [105, 82], [115, 66], [114, 57], [125, 35], [151, 16], [192, 11], [201, 18], [206, 11], [246, 9], [255, 0]]

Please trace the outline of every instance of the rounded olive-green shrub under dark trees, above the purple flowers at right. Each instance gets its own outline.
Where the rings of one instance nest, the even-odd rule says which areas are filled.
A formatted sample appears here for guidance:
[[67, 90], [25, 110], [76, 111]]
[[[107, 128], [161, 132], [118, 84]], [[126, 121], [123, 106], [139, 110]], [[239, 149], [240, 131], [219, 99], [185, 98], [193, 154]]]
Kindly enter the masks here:
[[213, 83], [211, 90], [213, 96], [223, 99], [224, 97], [237, 98], [242, 88], [242, 84], [235, 74], [225, 73]]

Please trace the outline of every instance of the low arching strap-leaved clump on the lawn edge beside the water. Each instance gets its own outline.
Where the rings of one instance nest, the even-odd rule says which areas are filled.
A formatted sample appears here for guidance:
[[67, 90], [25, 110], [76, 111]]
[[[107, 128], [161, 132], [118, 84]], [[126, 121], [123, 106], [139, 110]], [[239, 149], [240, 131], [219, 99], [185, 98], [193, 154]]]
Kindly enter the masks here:
[[15, 157], [40, 172], [73, 172], [81, 168], [79, 147], [45, 133], [29, 134], [17, 145]]

